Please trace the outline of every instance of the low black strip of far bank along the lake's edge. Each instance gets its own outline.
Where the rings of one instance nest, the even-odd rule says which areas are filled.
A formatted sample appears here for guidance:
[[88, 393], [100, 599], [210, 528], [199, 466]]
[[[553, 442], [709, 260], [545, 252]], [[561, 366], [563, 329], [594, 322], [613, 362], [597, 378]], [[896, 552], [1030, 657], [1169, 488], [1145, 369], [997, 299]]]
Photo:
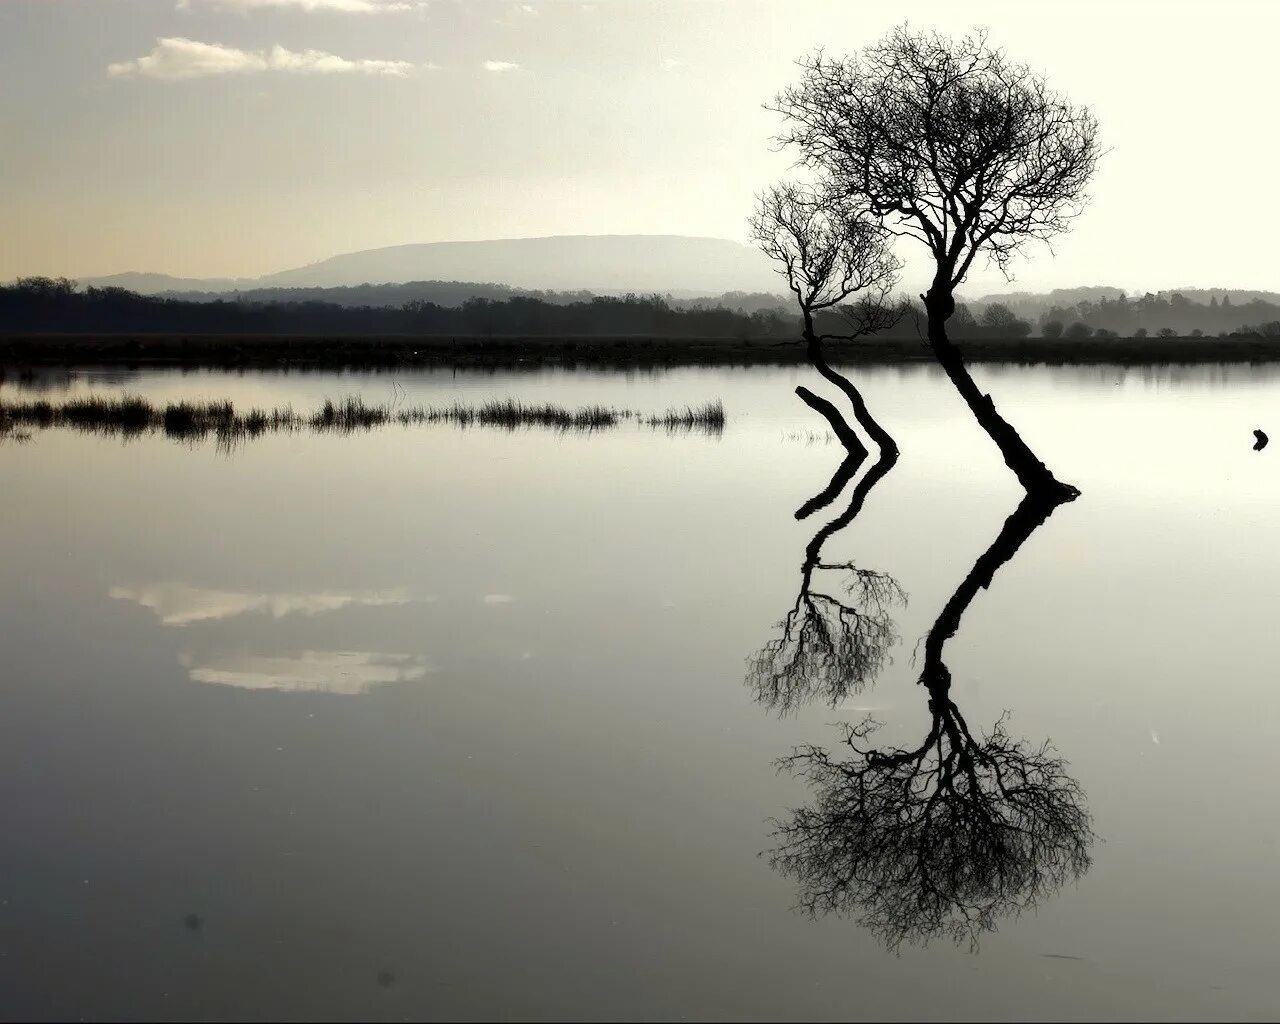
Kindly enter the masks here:
[[[828, 342], [838, 366], [932, 361], [922, 338]], [[982, 338], [965, 340], [969, 362], [1023, 365], [1280, 362], [1280, 337]], [[401, 366], [716, 366], [800, 365], [799, 338], [649, 335], [0, 335], [0, 367], [189, 366], [210, 369], [361, 369]], [[3, 372], [3, 370], [0, 370]]]

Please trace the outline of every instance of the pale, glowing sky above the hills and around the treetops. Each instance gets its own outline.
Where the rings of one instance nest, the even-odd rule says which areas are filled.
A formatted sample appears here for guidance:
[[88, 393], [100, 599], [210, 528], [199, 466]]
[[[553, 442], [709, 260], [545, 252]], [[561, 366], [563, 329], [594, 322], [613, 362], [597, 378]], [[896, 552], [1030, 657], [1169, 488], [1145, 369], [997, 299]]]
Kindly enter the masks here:
[[966, 291], [1280, 289], [1271, 0], [0, 0], [0, 279], [745, 242], [792, 160], [763, 104], [902, 20], [986, 27], [1101, 125], [1070, 233]]

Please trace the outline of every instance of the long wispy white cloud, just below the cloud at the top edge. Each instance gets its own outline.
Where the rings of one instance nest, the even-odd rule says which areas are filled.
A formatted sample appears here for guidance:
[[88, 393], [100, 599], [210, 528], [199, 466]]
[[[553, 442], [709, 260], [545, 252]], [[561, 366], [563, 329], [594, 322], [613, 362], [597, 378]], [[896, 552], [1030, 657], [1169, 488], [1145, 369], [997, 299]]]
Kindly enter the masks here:
[[198, 42], [182, 36], [156, 40], [146, 56], [108, 64], [113, 78], [160, 78], [178, 81], [218, 74], [379, 74], [406, 77], [413, 65], [407, 60], [348, 60], [323, 50], [237, 50], [216, 42]]

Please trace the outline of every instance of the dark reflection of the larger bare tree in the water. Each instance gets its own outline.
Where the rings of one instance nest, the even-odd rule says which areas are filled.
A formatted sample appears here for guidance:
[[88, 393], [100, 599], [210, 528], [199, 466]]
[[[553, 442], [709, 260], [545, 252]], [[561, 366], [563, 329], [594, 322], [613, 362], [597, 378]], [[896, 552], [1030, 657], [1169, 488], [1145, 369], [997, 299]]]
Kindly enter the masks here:
[[[1062, 500], [1024, 498], [929, 630], [920, 684], [931, 721], [919, 746], [874, 746], [878, 723], [868, 718], [844, 727], [838, 754], [806, 745], [780, 762], [814, 790], [809, 805], [773, 823], [769, 854], [797, 883], [804, 910], [856, 916], [895, 950], [938, 937], [975, 946], [998, 919], [1088, 870], [1094, 835], [1066, 762], [1047, 741], [1010, 736], [1004, 717], [975, 736], [943, 662], [978, 590]], [[822, 672], [813, 689], [831, 686]]]

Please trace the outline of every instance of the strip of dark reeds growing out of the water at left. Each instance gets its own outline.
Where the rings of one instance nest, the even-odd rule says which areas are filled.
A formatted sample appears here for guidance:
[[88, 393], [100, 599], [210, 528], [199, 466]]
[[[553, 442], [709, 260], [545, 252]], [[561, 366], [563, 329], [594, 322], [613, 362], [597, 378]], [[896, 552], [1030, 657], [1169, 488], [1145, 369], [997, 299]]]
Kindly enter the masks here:
[[724, 407], [717, 399], [701, 406], [645, 413], [607, 406], [566, 408], [526, 404], [511, 398], [479, 406], [367, 404], [360, 396], [338, 402], [326, 399], [315, 412], [297, 412], [292, 406], [237, 410], [228, 401], [170, 402], [157, 406], [128, 394], [88, 396], [63, 403], [0, 402], [0, 439], [18, 442], [29, 440], [33, 429], [67, 428], [124, 439], [164, 435], [172, 440], [195, 443], [212, 436], [219, 447], [233, 448], [264, 434], [355, 434], [390, 425], [448, 424], [457, 428], [541, 428], [561, 433], [591, 433], [626, 422], [671, 434], [696, 431], [719, 436], [724, 430]]

